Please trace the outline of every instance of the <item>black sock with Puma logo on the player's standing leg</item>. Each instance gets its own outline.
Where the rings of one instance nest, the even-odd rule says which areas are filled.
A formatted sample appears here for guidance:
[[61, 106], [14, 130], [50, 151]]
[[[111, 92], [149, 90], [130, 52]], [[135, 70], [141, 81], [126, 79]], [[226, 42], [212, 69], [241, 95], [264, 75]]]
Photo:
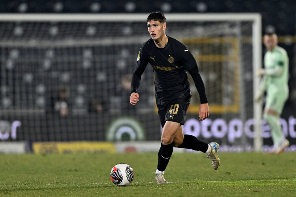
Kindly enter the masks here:
[[173, 143], [168, 145], [163, 145], [161, 143], [161, 146], [158, 152], [157, 170], [165, 171], [165, 168], [167, 167], [168, 162], [170, 160], [170, 156], [172, 156], [173, 149], [174, 149]]

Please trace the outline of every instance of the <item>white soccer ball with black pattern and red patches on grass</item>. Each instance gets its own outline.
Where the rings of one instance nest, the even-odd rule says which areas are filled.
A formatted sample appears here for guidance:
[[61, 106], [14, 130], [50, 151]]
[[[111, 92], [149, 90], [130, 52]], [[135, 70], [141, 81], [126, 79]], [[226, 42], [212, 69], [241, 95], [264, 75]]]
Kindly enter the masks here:
[[133, 181], [133, 168], [127, 164], [117, 164], [111, 170], [111, 180], [117, 186], [125, 186]]

